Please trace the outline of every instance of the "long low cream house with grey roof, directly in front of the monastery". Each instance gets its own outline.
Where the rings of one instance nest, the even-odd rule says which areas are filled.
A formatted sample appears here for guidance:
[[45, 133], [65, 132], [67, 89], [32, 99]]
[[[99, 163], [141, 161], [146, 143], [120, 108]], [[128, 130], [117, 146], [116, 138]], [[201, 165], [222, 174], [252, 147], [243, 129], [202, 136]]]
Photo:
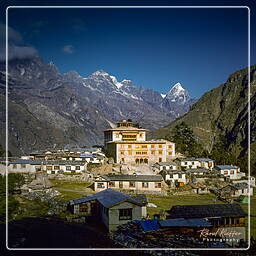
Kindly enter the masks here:
[[101, 191], [107, 188], [161, 192], [163, 178], [161, 175], [127, 175], [127, 174], [108, 174], [100, 176], [94, 181], [94, 190]]

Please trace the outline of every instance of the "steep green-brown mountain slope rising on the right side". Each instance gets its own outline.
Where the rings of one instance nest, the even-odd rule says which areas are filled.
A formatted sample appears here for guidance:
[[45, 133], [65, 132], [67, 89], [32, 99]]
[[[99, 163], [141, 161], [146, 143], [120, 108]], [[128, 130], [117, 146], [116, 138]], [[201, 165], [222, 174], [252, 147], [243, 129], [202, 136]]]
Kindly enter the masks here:
[[152, 138], [172, 134], [173, 128], [185, 122], [193, 128], [199, 142], [209, 152], [224, 138], [227, 151], [237, 157], [248, 155], [248, 101], [250, 98], [251, 161], [256, 163], [256, 65], [250, 68], [250, 95], [248, 69], [229, 76], [226, 83], [205, 93], [182, 117], [164, 128], [153, 131]]

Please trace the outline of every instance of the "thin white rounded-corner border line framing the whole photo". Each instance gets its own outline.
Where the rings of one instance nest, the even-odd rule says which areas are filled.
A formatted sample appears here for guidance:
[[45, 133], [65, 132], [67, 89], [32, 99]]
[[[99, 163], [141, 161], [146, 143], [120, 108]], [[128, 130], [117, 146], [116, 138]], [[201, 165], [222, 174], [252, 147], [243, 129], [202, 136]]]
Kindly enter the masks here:
[[250, 185], [250, 177], [251, 177], [251, 169], [250, 169], [250, 52], [251, 52], [251, 37], [250, 37], [250, 13], [251, 10], [248, 6], [8, 6], [5, 10], [6, 14], [6, 248], [10, 251], [56, 251], [56, 250], [83, 250], [83, 251], [155, 251], [155, 250], [174, 250], [174, 251], [226, 251], [226, 250], [234, 250], [234, 251], [245, 251], [250, 248], [250, 229], [251, 229], [251, 198], [250, 193], [248, 193], [249, 203], [248, 203], [248, 247], [247, 248], [9, 248], [8, 247], [8, 168], [7, 168], [7, 161], [8, 161], [8, 10], [9, 9], [23, 9], [23, 8], [91, 8], [91, 9], [104, 9], [104, 8], [114, 8], [114, 9], [123, 9], [123, 8], [130, 8], [130, 9], [164, 9], [164, 8], [176, 8], [176, 9], [206, 9], [206, 8], [216, 8], [216, 9], [247, 9], [248, 10], [248, 184]]

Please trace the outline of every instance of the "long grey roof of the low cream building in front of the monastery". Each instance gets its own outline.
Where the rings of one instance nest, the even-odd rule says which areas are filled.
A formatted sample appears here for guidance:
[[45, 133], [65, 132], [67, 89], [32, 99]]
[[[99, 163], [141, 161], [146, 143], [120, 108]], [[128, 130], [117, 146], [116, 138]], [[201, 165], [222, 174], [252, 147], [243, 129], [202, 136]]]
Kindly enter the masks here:
[[128, 174], [109, 174], [102, 176], [109, 181], [162, 181], [161, 175], [128, 175]]

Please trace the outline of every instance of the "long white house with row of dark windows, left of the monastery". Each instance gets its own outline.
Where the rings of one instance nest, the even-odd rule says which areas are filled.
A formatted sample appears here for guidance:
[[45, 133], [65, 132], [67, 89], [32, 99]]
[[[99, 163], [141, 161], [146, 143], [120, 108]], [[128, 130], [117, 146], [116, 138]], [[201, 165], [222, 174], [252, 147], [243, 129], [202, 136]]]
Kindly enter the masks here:
[[82, 161], [52, 160], [42, 162], [42, 171], [47, 174], [81, 173], [87, 170], [87, 163]]

